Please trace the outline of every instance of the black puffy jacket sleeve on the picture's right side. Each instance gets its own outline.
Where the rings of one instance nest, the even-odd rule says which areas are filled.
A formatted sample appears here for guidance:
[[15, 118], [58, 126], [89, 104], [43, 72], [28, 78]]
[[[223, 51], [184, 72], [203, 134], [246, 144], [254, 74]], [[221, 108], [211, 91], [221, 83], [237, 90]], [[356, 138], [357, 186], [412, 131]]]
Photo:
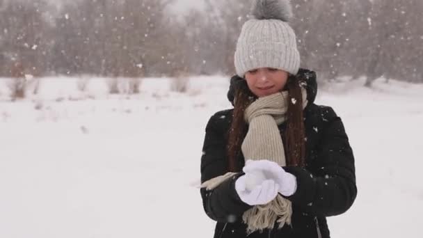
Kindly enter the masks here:
[[335, 216], [346, 212], [357, 196], [354, 157], [341, 118], [329, 107], [322, 115], [325, 126], [313, 165], [318, 170], [312, 174], [306, 168], [285, 167], [297, 178], [296, 193], [288, 199], [311, 214]]

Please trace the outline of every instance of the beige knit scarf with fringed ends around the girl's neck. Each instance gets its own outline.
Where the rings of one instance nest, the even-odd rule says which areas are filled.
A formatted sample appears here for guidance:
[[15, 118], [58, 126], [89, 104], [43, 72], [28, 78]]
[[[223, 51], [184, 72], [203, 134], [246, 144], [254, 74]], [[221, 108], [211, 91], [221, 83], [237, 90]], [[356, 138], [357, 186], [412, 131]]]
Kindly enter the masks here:
[[[307, 94], [302, 90], [303, 108], [307, 105]], [[286, 166], [285, 150], [278, 125], [286, 120], [288, 103], [297, 103], [289, 99], [286, 91], [274, 93], [255, 100], [244, 113], [249, 124], [248, 132], [241, 145], [244, 159], [275, 161], [280, 166]], [[201, 187], [212, 190], [234, 173], [226, 173], [204, 182]], [[242, 219], [248, 225], [247, 233], [266, 228], [273, 229], [276, 221], [278, 228], [291, 224], [292, 205], [280, 194], [266, 205], [255, 205], [244, 212]]]

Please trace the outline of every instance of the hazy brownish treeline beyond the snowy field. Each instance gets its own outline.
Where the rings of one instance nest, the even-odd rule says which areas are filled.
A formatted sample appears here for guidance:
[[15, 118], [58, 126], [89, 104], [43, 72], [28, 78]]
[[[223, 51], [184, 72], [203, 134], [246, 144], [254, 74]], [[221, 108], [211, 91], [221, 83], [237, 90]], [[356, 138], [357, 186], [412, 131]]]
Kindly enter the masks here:
[[[205, 0], [172, 13], [171, 0], [0, 0], [0, 77], [233, 74], [249, 1]], [[321, 79], [423, 83], [423, 1], [293, 0], [302, 66]]]

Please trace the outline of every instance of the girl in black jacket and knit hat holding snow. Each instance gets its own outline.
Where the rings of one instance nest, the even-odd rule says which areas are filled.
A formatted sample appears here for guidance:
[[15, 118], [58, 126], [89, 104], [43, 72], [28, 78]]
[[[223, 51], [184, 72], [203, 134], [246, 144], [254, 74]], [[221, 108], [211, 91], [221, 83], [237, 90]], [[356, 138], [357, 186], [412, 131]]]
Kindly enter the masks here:
[[299, 68], [291, 9], [253, 1], [234, 55], [234, 109], [207, 123], [200, 192], [215, 238], [328, 238], [326, 217], [356, 198], [348, 137], [332, 108], [314, 104], [316, 75]]

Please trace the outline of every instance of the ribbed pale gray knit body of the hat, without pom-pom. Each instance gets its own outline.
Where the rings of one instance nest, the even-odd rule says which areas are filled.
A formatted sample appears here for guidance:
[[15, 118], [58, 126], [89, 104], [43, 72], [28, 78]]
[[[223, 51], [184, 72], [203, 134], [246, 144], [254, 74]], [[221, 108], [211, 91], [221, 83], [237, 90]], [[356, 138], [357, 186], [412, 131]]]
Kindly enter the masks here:
[[297, 74], [300, 54], [294, 30], [279, 19], [248, 20], [237, 41], [234, 65], [239, 77], [257, 68], [276, 68]]

